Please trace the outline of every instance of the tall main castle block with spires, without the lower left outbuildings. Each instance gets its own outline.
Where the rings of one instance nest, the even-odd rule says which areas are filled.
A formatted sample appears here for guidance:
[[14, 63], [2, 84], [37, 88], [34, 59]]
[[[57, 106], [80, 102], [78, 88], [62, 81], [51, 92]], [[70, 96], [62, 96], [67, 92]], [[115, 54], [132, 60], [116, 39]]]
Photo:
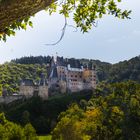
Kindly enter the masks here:
[[52, 58], [48, 77], [49, 93], [79, 92], [96, 88], [95, 67], [83, 66], [77, 60], [65, 62], [63, 57]]

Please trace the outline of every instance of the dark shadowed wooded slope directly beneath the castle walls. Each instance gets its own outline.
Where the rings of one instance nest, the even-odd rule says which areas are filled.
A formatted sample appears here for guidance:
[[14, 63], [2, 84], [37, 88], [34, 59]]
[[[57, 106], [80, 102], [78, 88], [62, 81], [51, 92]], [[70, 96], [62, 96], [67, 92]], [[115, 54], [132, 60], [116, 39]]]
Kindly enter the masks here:
[[10, 104], [0, 104], [0, 112], [4, 112], [7, 119], [25, 126], [31, 123], [37, 134], [49, 134], [57, 123], [59, 114], [65, 111], [72, 103], [88, 101], [92, 91], [57, 95], [48, 100], [33, 97], [28, 100], [17, 100]]

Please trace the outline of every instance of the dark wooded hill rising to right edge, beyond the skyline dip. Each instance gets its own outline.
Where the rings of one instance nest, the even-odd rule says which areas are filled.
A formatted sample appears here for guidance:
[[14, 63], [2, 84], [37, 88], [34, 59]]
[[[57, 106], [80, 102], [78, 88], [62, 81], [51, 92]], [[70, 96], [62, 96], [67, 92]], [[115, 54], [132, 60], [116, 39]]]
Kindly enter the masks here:
[[140, 56], [112, 65], [109, 82], [133, 80], [140, 82]]

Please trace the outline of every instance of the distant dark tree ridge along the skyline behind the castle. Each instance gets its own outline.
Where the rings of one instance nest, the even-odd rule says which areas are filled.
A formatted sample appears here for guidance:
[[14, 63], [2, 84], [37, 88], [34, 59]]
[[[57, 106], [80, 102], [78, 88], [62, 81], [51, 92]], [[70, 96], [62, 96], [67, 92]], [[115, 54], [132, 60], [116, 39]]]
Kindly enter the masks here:
[[[65, 62], [69, 61], [71, 64], [80, 62], [82, 65], [89, 66], [90, 68], [92, 65], [96, 66], [97, 69], [97, 75], [99, 81], [106, 80], [109, 77], [109, 70], [112, 67], [112, 64], [107, 62], [101, 62], [100, 60], [92, 60], [92, 59], [75, 59], [75, 58], [63, 58], [60, 57], [60, 59], [64, 59]], [[16, 64], [48, 64], [51, 60], [51, 56], [29, 56], [29, 57], [22, 57], [20, 59], [12, 60], [11, 62]]]

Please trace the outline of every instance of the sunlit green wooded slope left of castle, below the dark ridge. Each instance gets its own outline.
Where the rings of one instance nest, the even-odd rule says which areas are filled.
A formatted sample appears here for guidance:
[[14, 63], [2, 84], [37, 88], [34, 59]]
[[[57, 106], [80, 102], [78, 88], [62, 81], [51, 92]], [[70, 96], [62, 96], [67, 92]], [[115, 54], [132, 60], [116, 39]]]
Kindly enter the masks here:
[[15, 93], [19, 90], [20, 81], [24, 78], [38, 81], [40, 76], [46, 72], [46, 65], [40, 64], [16, 64], [13, 62], [0, 65], [0, 93], [2, 88], [8, 90], [8, 93]]

